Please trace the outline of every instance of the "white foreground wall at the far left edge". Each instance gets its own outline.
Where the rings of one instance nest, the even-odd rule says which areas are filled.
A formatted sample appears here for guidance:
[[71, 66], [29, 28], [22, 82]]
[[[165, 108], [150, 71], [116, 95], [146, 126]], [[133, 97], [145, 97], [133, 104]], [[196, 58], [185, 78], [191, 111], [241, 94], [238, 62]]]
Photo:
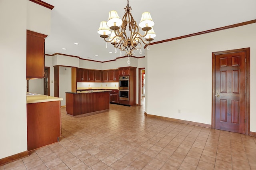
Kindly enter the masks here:
[[0, 0], [0, 159], [27, 150], [27, 0]]

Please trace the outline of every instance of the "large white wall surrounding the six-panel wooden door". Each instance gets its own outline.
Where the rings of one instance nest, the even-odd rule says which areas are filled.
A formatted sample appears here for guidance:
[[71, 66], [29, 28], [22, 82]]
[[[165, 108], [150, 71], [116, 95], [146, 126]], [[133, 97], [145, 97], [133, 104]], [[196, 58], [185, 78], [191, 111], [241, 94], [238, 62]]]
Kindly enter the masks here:
[[151, 45], [147, 55], [146, 112], [210, 125], [212, 52], [250, 47], [250, 131], [256, 132], [255, 30], [256, 24], [250, 24]]

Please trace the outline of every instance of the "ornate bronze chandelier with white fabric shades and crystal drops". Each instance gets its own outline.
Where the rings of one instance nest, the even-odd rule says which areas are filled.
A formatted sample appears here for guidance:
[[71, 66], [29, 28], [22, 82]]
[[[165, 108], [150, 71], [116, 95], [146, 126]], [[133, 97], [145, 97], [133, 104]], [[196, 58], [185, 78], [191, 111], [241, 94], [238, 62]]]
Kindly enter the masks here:
[[[153, 38], [156, 36], [153, 26], [154, 22], [150, 16], [149, 12], [144, 12], [140, 20], [140, 28], [144, 31], [144, 35], [139, 33], [139, 27], [137, 26], [136, 21], [133, 19], [130, 10], [132, 8], [129, 6], [129, 0], [127, 0], [127, 6], [124, 8], [125, 14], [122, 20], [119, 18], [116, 11], [110, 11], [108, 14], [108, 22], [100, 22], [100, 28], [98, 29], [98, 34], [101, 38], [104, 38], [107, 43], [111, 42], [116, 49], [120, 49], [120, 55], [122, 51], [125, 51], [125, 55], [128, 56], [127, 63], [130, 64], [130, 57], [132, 53], [135, 53], [135, 49], [140, 49], [140, 54], [142, 54], [141, 47], [142, 43], [149, 45]], [[110, 29], [112, 31], [110, 31]], [[127, 32], [126, 32], [127, 31]], [[110, 35], [110, 38], [107, 40]], [[149, 50], [149, 46], [147, 47]]]

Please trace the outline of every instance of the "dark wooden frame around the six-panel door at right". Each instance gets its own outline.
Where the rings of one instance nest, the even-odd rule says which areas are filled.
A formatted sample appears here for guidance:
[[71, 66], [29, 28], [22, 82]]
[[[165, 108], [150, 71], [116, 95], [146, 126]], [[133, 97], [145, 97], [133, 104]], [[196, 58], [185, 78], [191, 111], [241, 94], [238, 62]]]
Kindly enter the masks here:
[[220, 54], [227, 54], [227, 53], [236, 53], [236, 52], [245, 52], [245, 119], [246, 119], [246, 124], [245, 124], [245, 134], [250, 133], [250, 47], [248, 48], [241, 48], [241, 49], [232, 49], [232, 50], [226, 50], [226, 51], [217, 51], [217, 52], [212, 52], [212, 128], [215, 129], [215, 102], [216, 102], [216, 97], [215, 97], [215, 59], [216, 55]]

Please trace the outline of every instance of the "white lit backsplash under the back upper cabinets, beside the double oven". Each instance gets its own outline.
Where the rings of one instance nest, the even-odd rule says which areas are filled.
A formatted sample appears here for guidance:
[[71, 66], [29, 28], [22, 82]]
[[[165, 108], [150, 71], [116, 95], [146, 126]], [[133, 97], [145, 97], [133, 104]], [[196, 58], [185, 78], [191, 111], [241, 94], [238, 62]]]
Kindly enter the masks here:
[[118, 89], [118, 82], [77, 82], [76, 89]]

